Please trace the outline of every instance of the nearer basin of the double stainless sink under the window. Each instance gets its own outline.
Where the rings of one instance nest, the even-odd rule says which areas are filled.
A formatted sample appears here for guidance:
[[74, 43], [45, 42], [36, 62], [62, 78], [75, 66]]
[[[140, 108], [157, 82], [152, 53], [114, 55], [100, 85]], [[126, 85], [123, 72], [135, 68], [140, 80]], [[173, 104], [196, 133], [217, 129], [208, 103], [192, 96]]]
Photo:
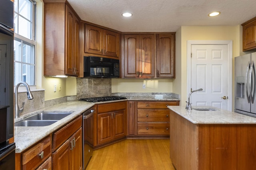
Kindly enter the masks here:
[[14, 126], [48, 126], [56, 121], [57, 120], [23, 120], [14, 123]]

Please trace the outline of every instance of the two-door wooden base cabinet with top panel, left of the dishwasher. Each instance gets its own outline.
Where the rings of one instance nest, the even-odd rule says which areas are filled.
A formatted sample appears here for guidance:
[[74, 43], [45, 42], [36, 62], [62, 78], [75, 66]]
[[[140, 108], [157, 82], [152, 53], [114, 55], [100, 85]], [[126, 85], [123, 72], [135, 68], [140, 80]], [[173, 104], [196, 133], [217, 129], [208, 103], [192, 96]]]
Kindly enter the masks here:
[[53, 170], [82, 170], [82, 116], [53, 133]]

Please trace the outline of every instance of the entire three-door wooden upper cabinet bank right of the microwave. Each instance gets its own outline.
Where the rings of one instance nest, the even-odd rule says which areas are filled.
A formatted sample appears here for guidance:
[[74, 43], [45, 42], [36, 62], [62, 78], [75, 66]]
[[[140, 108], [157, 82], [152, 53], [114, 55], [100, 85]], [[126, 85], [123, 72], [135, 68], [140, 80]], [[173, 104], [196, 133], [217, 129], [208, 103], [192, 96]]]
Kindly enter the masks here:
[[122, 78], [175, 78], [175, 33], [124, 34], [122, 45]]

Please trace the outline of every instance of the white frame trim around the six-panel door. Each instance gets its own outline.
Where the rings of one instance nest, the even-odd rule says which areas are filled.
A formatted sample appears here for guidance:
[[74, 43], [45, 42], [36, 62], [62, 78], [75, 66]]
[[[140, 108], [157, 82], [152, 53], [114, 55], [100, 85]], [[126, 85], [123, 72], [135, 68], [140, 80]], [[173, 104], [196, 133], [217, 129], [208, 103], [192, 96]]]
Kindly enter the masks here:
[[192, 45], [227, 45], [228, 46], [228, 111], [232, 111], [232, 40], [188, 40], [187, 41], [187, 95], [191, 89], [191, 47]]

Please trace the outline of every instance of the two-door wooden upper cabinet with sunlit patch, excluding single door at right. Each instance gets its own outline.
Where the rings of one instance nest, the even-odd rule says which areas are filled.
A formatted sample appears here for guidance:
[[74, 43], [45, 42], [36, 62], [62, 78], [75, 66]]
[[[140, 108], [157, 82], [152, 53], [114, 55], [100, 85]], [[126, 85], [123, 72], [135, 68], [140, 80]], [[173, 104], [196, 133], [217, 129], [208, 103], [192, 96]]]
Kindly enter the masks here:
[[155, 35], [124, 35], [124, 78], [154, 77]]

